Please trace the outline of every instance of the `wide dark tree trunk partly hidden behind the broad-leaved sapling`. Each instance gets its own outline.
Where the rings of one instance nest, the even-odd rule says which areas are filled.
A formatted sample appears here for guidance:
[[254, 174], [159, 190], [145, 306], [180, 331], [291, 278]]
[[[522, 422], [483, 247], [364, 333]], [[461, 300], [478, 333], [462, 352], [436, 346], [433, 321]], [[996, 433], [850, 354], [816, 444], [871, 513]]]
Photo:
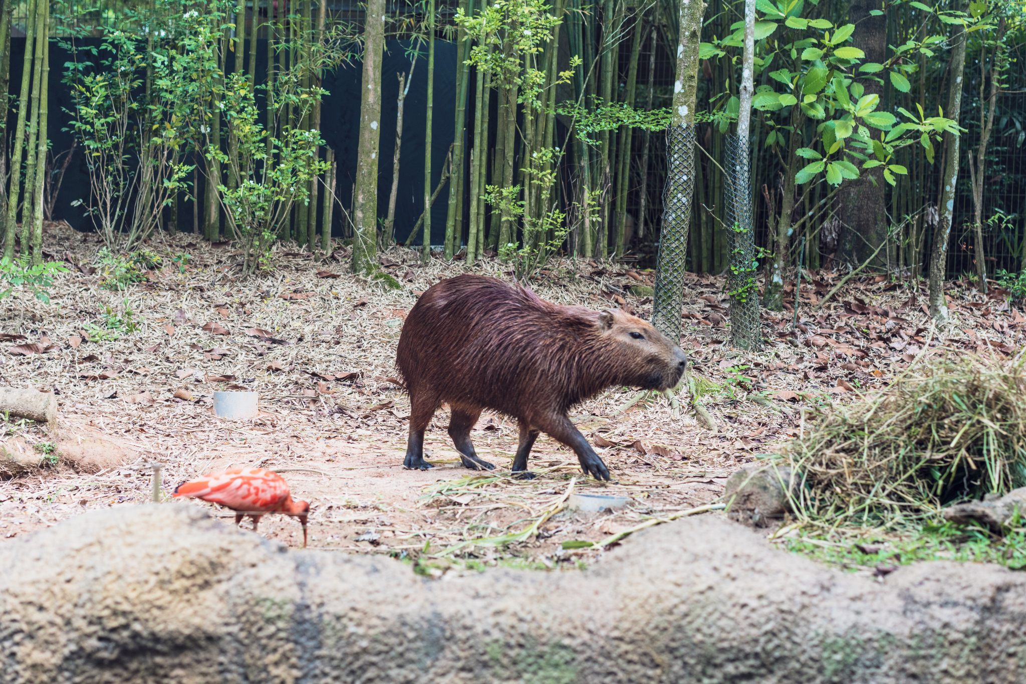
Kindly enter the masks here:
[[[870, 10], [881, 8], [880, 0], [852, 0], [849, 6], [849, 22], [858, 27], [852, 44], [866, 53], [867, 63], [880, 64], [886, 61], [886, 14], [870, 14]], [[883, 102], [883, 86], [870, 79], [863, 83], [865, 94], [879, 95], [877, 111], [890, 111]], [[853, 267], [862, 265], [887, 239], [884, 187], [883, 166], [877, 166], [861, 171], [858, 179], [845, 182], [841, 188], [837, 198], [838, 213], [842, 220], [837, 259], [841, 263]], [[875, 264], [871, 266], [882, 267], [885, 261], [886, 251], [880, 250]]]

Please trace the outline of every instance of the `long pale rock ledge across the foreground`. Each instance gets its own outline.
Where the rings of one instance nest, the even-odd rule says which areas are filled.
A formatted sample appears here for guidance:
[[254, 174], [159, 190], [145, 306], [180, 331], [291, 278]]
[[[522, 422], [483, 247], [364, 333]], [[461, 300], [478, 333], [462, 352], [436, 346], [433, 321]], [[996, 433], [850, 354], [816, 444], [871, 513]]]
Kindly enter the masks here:
[[283, 547], [189, 505], [90, 513], [4, 547], [2, 682], [1015, 682], [1026, 577], [924, 563], [886, 584], [723, 518], [592, 569], [431, 580]]

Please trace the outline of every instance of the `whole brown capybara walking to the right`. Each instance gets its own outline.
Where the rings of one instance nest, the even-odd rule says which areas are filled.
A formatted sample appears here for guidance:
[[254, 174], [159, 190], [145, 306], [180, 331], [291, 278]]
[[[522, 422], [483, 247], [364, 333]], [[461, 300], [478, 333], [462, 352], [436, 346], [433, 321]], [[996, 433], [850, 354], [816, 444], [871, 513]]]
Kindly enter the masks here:
[[424, 460], [424, 431], [448, 402], [448, 434], [467, 468], [494, 468], [470, 441], [487, 408], [517, 419], [513, 472], [527, 470], [530, 448], [545, 432], [574, 449], [586, 474], [608, 480], [608, 469], [567, 410], [611, 386], [672, 388], [686, 363], [679, 347], [623, 311], [562, 307], [483, 276], [443, 280], [410, 310], [396, 350], [410, 401], [402, 465], [431, 467]]

